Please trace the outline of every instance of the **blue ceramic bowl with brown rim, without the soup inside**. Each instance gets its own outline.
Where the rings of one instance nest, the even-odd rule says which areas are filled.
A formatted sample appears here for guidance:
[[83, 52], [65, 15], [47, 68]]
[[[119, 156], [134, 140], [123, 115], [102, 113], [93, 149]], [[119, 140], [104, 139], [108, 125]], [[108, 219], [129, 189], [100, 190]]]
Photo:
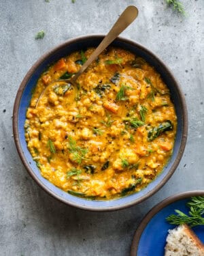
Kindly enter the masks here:
[[135, 53], [135, 55], [146, 59], [146, 61], [148, 61], [150, 65], [154, 66], [157, 72], [160, 73], [163, 81], [165, 81], [165, 83], [169, 87], [169, 90], [171, 92], [171, 98], [173, 103], [175, 104], [175, 111], [177, 114], [177, 134], [171, 159], [169, 160], [163, 172], [156, 178], [156, 180], [150, 183], [139, 193], [135, 193], [127, 197], [122, 197], [120, 199], [114, 199], [110, 201], [91, 201], [69, 195], [68, 193], [65, 193], [63, 190], [57, 188], [41, 176], [39, 169], [37, 169], [35, 161], [33, 160], [29, 150], [27, 149], [27, 143], [24, 138], [24, 122], [26, 118], [27, 107], [29, 106], [29, 102], [31, 100], [32, 89], [35, 87], [37, 79], [39, 79], [41, 73], [44, 72], [44, 70], [46, 70], [46, 68], [48, 68], [51, 63], [57, 61], [61, 57], [69, 55], [73, 51], [79, 51], [82, 48], [87, 48], [91, 46], [98, 46], [103, 38], [104, 35], [87, 35], [80, 38], [74, 38], [44, 54], [29, 70], [27, 75], [24, 77], [20, 88], [18, 89], [18, 93], [14, 103], [13, 119], [14, 139], [18, 153], [24, 166], [27, 168], [29, 174], [31, 175], [31, 177], [33, 177], [37, 184], [39, 184], [41, 188], [44, 188], [44, 190], [46, 190], [50, 195], [52, 195], [56, 199], [59, 199], [60, 201], [63, 201], [64, 203], [85, 210], [95, 211], [109, 211], [126, 208], [136, 203], [139, 203], [144, 199], [150, 197], [150, 195], [156, 193], [156, 191], [161, 188], [165, 184], [165, 182], [167, 182], [167, 180], [169, 180], [169, 177], [171, 177], [177, 165], [179, 164], [180, 159], [182, 158], [182, 154], [184, 152], [184, 147], [186, 145], [188, 130], [187, 111], [184, 96], [169, 68], [167, 68], [163, 61], [158, 59], [158, 57], [156, 57], [156, 55], [154, 55], [151, 51], [141, 46], [141, 44], [137, 44], [136, 42], [126, 40], [124, 38], [117, 38], [112, 43], [112, 46], [124, 48], [128, 51], [131, 51], [132, 53]]

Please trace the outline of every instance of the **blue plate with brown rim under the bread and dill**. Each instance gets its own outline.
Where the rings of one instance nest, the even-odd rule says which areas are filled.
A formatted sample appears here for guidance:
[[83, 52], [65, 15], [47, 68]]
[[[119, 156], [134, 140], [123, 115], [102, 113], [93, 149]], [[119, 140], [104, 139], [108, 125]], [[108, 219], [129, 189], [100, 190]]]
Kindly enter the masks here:
[[[167, 223], [167, 216], [175, 214], [176, 209], [188, 214], [189, 208], [186, 203], [190, 197], [194, 196], [204, 196], [204, 191], [191, 191], [175, 195], [152, 208], [135, 232], [131, 256], [163, 256], [168, 230], [175, 228], [175, 225]], [[192, 230], [204, 242], [204, 226], [197, 226]]]

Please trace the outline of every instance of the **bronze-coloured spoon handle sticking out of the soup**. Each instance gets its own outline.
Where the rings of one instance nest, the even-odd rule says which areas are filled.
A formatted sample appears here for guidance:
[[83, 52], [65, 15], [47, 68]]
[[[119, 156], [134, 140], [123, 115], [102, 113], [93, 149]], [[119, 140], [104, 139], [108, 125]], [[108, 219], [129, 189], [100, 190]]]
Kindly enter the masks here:
[[120, 35], [120, 33], [122, 33], [122, 31], [124, 31], [124, 29], [126, 29], [126, 27], [128, 27], [133, 22], [133, 20], [135, 20], [135, 18], [137, 18], [137, 15], [138, 15], [138, 10], [134, 5], [128, 6], [124, 10], [124, 12], [122, 12], [122, 14], [118, 18], [118, 20], [116, 21], [112, 29], [110, 29], [109, 33], [107, 33], [105, 38], [103, 38], [101, 44], [99, 44], [99, 46], [95, 49], [92, 55], [90, 55], [90, 57], [84, 63], [84, 65], [80, 68], [78, 73], [75, 74], [73, 78], [71, 78], [72, 83], [75, 83], [75, 81], [78, 79], [80, 74], [82, 74], [82, 72], [86, 70], [86, 68], [90, 65], [90, 63], [92, 63], [92, 61], [97, 59], [99, 54], [102, 53], [103, 50], [105, 50], [105, 48], [107, 48], [107, 46], [109, 46], [109, 44], [111, 44], [117, 38], [117, 36]]

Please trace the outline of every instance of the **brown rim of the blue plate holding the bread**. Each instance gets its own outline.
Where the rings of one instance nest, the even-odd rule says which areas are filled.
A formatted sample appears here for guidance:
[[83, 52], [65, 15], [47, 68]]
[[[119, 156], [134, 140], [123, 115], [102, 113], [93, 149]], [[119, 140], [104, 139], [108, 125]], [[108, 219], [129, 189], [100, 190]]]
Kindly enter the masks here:
[[[204, 196], [204, 190], [192, 190], [192, 191], [186, 191], [184, 193], [179, 193], [175, 195], [171, 195], [170, 197], [167, 197], [157, 205], [155, 205], [149, 212], [144, 216], [142, 219], [141, 223], [137, 227], [135, 231], [135, 235], [133, 237], [133, 242], [131, 246], [131, 256], [136, 256], [137, 255], [137, 249], [139, 246], [139, 240], [141, 238], [141, 234], [143, 233], [143, 230], [146, 228], [148, 225], [149, 221], [154, 217], [157, 212], [165, 208], [167, 205], [170, 203], [173, 203], [178, 200], [182, 200], [188, 197], [198, 197], [198, 196]], [[137, 255], [140, 256], [140, 255]]]

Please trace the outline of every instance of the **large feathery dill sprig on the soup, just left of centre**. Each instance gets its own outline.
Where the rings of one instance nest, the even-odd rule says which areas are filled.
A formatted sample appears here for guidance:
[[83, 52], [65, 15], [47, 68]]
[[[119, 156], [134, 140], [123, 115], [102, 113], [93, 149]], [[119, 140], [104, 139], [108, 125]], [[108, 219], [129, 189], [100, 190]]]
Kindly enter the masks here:
[[86, 154], [88, 153], [87, 148], [82, 148], [76, 145], [76, 142], [73, 138], [69, 136], [69, 152], [73, 154], [73, 160], [80, 164], [82, 160], [88, 160], [85, 158]]

